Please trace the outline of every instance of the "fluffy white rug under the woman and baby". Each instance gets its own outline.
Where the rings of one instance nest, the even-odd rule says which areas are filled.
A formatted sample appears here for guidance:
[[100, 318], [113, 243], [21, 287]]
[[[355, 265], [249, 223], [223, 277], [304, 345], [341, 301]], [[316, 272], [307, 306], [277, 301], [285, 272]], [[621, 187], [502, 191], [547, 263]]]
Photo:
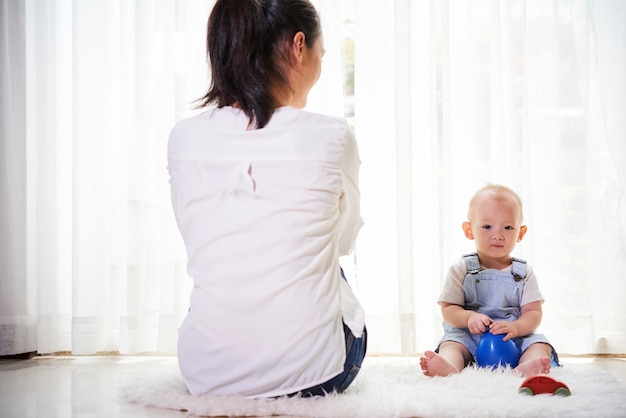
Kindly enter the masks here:
[[141, 376], [122, 397], [146, 406], [186, 410], [192, 416], [292, 417], [626, 417], [626, 388], [605, 371], [566, 365], [551, 376], [572, 396], [518, 393], [522, 378], [510, 370], [467, 368], [446, 378], [421, 374], [417, 358], [366, 358], [353, 385], [341, 395], [246, 399], [191, 396], [175, 365]]

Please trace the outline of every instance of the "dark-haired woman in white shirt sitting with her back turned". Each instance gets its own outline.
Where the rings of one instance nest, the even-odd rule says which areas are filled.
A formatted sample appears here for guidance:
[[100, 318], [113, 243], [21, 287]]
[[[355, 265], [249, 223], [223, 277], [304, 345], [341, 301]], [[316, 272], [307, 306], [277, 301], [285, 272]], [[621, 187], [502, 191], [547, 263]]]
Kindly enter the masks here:
[[212, 84], [173, 128], [174, 213], [194, 280], [178, 357], [192, 394], [345, 390], [365, 356], [339, 266], [362, 221], [345, 120], [301, 109], [324, 54], [307, 0], [218, 0]]

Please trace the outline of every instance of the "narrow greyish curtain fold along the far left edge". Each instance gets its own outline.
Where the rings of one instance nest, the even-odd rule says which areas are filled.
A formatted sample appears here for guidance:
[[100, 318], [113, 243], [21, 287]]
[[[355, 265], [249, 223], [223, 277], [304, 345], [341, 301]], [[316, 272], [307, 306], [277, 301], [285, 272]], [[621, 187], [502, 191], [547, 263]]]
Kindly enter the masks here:
[[37, 348], [37, 282], [30, 251], [35, 226], [27, 222], [33, 219], [27, 210], [33, 171], [24, 164], [32, 152], [24, 94], [25, 15], [21, 2], [0, 3], [0, 354]]

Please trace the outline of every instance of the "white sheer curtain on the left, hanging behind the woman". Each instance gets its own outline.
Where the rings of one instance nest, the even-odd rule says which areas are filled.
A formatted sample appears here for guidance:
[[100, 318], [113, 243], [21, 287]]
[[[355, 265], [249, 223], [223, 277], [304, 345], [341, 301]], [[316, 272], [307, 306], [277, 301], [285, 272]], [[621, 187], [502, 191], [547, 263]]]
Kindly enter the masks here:
[[[212, 4], [0, 2], [0, 355], [176, 351], [191, 280], [166, 141], [207, 86]], [[311, 107], [342, 113], [339, 19], [317, 4]]]

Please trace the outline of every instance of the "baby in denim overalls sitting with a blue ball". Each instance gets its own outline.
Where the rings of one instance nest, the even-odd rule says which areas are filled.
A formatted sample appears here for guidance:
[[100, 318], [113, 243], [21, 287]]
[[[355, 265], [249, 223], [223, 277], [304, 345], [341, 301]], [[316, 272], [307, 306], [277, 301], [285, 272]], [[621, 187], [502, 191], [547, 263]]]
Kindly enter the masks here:
[[438, 301], [444, 335], [434, 352], [420, 358], [426, 376], [459, 373], [476, 358], [484, 332], [515, 342], [521, 357], [514, 370], [523, 376], [559, 365], [548, 340], [534, 333], [543, 303], [537, 278], [525, 261], [511, 257], [528, 229], [522, 222], [522, 201], [507, 187], [488, 185], [471, 199], [463, 232], [475, 240], [476, 252], [448, 271]]

